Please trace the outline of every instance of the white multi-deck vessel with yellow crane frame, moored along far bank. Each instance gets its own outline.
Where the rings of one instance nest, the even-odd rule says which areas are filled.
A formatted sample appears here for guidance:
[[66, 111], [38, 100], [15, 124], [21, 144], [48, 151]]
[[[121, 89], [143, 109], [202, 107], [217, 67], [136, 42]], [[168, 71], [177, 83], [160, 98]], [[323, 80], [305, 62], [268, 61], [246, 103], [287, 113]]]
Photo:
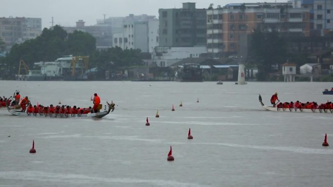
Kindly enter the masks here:
[[28, 70], [27, 81], [87, 80], [89, 56], [63, 56], [54, 62], [36, 62], [40, 70]]

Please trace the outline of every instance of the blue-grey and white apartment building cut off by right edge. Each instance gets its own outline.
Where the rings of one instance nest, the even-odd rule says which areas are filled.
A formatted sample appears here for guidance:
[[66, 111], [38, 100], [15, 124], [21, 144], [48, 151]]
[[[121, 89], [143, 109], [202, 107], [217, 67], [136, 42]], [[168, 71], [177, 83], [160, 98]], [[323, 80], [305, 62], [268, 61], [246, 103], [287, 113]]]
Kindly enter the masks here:
[[333, 33], [333, 0], [290, 0], [290, 2], [296, 7], [310, 9], [311, 35], [325, 36]]

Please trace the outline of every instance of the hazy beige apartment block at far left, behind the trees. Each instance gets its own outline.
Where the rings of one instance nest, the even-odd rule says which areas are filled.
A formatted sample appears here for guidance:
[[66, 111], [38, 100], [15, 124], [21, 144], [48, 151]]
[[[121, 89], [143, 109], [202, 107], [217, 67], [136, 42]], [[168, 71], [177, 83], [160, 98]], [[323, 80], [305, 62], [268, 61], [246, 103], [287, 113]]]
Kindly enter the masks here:
[[6, 51], [15, 43], [36, 38], [41, 32], [41, 18], [0, 17], [0, 38], [6, 43]]

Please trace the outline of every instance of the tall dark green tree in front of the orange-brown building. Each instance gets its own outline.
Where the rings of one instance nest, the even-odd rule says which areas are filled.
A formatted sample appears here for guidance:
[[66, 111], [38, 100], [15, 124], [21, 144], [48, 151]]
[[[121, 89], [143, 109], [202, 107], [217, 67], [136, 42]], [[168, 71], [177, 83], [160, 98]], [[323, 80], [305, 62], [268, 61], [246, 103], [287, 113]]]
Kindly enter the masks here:
[[259, 69], [260, 81], [268, 80], [272, 65], [286, 62], [287, 48], [284, 38], [277, 31], [261, 32], [254, 30], [251, 41], [252, 58]]

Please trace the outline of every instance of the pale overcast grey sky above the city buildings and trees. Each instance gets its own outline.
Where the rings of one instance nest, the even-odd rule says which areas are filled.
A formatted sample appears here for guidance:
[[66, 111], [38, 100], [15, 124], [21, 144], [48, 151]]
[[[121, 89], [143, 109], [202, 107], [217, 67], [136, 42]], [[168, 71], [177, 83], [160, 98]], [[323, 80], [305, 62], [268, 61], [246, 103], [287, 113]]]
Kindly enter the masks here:
[[105, 17], [125, 17], [129, 14], [152, 15], [158, 18], [159, 8], [181, 8], [182, 2], [196, 2], [197, 8], [208, 8], [210, 3], [224, 6], [243, 2], [287, 2], [287, 0], [0, 0], [0, 17], [40, 17], [42, 27], [52, 24], [75, 26], [83, 19], [86, 26]]

